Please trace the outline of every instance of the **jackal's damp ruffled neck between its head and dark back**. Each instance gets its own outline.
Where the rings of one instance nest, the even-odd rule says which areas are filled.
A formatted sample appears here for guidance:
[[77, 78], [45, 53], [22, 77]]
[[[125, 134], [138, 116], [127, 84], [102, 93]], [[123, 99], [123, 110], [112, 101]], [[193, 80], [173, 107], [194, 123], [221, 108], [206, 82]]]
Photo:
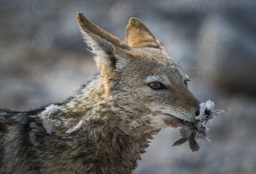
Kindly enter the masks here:
[[102, 161], [102, 166], [97, 166], [99, 172], [131, 172], [148, 147], [148, 139], [153, 139], [160, 129], [146, 126], [148, 120], [143, 116], [137, 118], [140, 111], [132, 112], [107, 100], [102, 88], [94, 88], [97, 86], [101, 86], [99, 81], [89, 83], [62, 108], [69, 127], [66, 135], [71, 139], [79, 137], [76, 147], [87, 149], [77, 151], [74, 157]]

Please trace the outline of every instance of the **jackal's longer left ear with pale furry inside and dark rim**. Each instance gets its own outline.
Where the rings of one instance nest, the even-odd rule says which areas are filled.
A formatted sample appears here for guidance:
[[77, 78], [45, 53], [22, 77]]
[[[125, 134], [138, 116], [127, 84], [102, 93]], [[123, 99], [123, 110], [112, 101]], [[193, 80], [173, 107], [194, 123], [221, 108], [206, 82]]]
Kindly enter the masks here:
[[114, 68], [115, 52], [120, 49], [128, 49], [128, 46], [123, 44], [119, 38], [91, 22], [81, 12], [76, 13], [76, 20], [85, 42], [92, 49], [91, 52], [96, 55], [94, 60], [99, 70], [105, 71]]

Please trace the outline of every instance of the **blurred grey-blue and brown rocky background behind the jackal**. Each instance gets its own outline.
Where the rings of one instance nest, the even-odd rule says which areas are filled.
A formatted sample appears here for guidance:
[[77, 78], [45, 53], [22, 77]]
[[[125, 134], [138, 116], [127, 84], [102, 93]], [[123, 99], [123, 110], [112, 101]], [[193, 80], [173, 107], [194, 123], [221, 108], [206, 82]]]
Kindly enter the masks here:
[[124, 38], [140, 18], [189, 74], [189, 89], [228, 113], [211, 120], [201, 151], [172, 147], [168, 128], [154, 136], [134, 173], [256, 172], [256, 1], [0, 1], [0, 104], [24, 111], [61, 102], [92, 80], [96, 64], [76, 12]]

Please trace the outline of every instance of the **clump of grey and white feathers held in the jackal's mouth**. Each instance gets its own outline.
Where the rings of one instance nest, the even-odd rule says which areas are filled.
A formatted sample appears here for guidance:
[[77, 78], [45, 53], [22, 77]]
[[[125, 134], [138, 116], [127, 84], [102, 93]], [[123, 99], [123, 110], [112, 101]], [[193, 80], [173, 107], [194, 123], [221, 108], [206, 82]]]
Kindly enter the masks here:
[[195, 119], [197, 119], [196, 123], [186, 122], [182, 119], [178, 119], [177, 117], [172, 117], [170, 119], [171, 122], [175, 123], [175, 126], [177, 125], [177, 127], [182, 127], [180, 129], [180, 135], [182, 136], [182, 138], [175, 142], [172, 146], [182, 145], [186, 141], [189, 141], [189, 148], [193, 152], [199, 151], [200, 146], [196, 142], [196, 139], [202, 138], [205, 141], [209, 141], [207, 133], [209, 131], [209, 128], [204, 125], [209, 121], [209, 119], [212, 119], [214, 116], [218, 116], [220, 113], [226, 112], [225, 110], [214, 110], [214, 107], [214, 102], [210, 100], [207, 100], [205, 103], [199, 104], [200, 113], [198, 116], [195, 117]]

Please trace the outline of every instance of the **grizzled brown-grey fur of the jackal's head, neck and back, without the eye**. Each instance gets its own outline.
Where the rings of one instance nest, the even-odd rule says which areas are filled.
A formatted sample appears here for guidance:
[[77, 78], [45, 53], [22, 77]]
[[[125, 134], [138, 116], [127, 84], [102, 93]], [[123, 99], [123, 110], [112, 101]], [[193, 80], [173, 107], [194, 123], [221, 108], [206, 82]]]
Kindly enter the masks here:
[[[76, 19], [101, 76], [64, 103], [1, 110], [0, 173], [128, 174], [153, 135], [196, 122], [188, 76], [140, 20], [120, 41], [81, 12]], [[148, 86], [156, 81], [166, 88]]]

